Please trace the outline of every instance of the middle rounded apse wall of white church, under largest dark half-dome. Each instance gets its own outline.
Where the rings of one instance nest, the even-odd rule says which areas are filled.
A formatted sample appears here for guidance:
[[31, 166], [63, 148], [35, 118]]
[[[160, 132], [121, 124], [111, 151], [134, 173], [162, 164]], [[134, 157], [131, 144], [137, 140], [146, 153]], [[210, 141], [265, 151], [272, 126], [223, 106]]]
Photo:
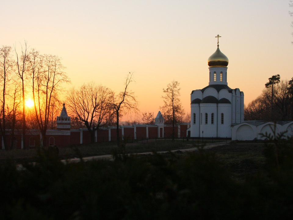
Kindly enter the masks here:
[[[200, 134], [204, 137], [217, 137], [217, 104], [200, 104], [201, 113], [202, 113], [202, 123], [200, 126]], [[214, 123], [212, 124], [212, 113], [214, 113]], [[205, 114], [208, 116], [206, 121]], [[204, 133], [202, 134], [202, 131]]]

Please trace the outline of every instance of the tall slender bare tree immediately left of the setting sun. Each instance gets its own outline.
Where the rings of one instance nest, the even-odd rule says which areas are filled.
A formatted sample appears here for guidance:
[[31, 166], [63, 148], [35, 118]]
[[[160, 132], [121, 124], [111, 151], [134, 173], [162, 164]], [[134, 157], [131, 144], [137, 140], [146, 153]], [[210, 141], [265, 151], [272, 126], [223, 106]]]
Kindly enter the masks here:
[[25, 121], [25, 95], [24, 95], [24, 79], [26, 73], [26, 66], [29, 58], [29, 52], [27, 48], [27, 42], [24, 42], [24, 47], [21, 45], [21, 54], [18, 55], [16, 51], [16, 46], [14, 46], [16, 55], [16, 75], [20, 78], [22, 84], [22, 135], [23, 135], [23, 145], [26, 148], [26, 121]]

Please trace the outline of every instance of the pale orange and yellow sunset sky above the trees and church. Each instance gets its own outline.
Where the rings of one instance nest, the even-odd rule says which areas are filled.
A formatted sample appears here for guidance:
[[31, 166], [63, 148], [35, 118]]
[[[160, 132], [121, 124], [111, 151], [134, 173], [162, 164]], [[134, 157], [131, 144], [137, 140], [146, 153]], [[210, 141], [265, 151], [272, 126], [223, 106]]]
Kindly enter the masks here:
[[[180, 82], [190, 112], [190, 93], [208, 85], [207, 60], [217, 48], [229, 59], [228, 86], [244, 92], [247, 105], [268, 78], [293, 77], [289, 0], [2, 1], [0, 45], [28, 42], [40, 53], [62, 57], [72, 84], [95, 81], [112, 90], [130, 88], [139, 109], [163, 105], [163, 88]], [[66, 102], [66, 100], [64, 100]]]

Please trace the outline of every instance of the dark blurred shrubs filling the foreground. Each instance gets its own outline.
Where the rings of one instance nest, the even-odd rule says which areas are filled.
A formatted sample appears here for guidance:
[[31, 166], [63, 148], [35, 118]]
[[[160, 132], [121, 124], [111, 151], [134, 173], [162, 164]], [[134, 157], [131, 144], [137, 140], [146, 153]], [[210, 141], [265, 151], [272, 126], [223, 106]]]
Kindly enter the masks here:
[[24, 164], [23, 170], [7, 161], [0, 167], [1, 218], [231, 219], [292, 215], [289, 165], [285, 166], [290, 168], [288, 172], [279, 173], [278, 178], [264, 170], [245, 182], [236, 182], [212, 153], [202, 149], [183, 156], [116, 154], [114, 158], [64, 164], [41, 149], [37, 162]]

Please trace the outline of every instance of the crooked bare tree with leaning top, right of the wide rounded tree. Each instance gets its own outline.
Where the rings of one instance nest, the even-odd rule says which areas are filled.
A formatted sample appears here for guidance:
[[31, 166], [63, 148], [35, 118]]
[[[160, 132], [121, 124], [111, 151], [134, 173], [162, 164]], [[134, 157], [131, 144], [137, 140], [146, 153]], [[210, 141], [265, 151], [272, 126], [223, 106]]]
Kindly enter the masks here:
[[129, 84], [133, 82], [133, 73], [128, 73], [125, 84], [124, 91], [121, 91], [119, 94], [112, 92], [111, 95], [111, 106], [116, 114], [116, 135], [117, 135], [117, 146], [120, 145], [120, 135], [119, 135], [119, 116], [123, 112], [131, 113], [137, 112], [137, 101], [134, 92], [129, 90]]

